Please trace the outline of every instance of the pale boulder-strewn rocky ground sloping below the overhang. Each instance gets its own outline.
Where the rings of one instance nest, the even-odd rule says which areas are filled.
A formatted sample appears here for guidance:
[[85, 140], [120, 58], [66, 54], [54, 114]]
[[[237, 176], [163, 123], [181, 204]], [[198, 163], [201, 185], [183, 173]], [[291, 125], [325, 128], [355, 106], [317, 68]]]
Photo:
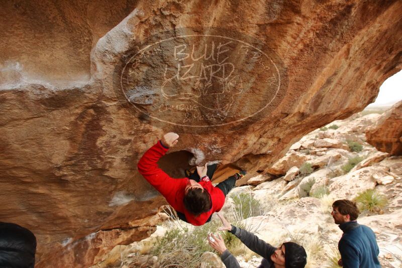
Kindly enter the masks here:
[[[227, 197], [223, 213], [231, 209], [236, 195], [250, 193], [264, 211], [262, 215], [246, 219], [247, 226], [258, 225], [258, 235], [273, 245], [285, 240], [302, 243], [309, 255], [307, 267], [323, 267], [342, 235], [330, 215], [332, 202], [340, 198], [353, 199], [367, 189], [375, 189], [386, 197], [387, 204], [374, 208], [374, 212], [363, 211], [358, 222], [375, 232], [382, 267], [402, 267], [398, 260], [402, 256], [402, 157], [378, 152], [365, 142], [366, 127], [379, 116], [356, 114], [309, 133], [291, 146], [287, 154], [268, 169], [269, 173], [235, 188]], [[349, 145], [361, 145], [362, 150], [352, 152], [347, 141]], [[346, 172], [345, 165], [356, 157], [362, 161]], [[322, 192], [327, 194], [320, 195]], [[166, 218], [164, 213], [161, 215]], [[155, 237], [162, 236], [169, 228], [166, 222], [171, 223], [165, 221], [151, 237], [141, 242], [115, 247], [95, 267], [152, 266], [157, 257], [147, 254]], [[204, 257], [215, 261], [213, 267], [223, 267], [215, 254], [206, 253]], [[236, 257], [241, 267], [258, 266], [261, 260], [250, 252]], [[201, 266], [208, 265], [202, 262]]]

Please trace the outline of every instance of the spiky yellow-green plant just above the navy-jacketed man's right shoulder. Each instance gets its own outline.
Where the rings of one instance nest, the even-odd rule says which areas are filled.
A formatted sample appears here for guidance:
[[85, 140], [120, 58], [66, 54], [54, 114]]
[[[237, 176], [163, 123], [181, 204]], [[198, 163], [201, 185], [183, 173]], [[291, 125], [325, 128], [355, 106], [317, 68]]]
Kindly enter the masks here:
[[361, 192], [355, 198], [355, 201], [361, 211], [379, 212], [388, 203], [383, 194], [378, 193], [375, 189], [368, 189]]

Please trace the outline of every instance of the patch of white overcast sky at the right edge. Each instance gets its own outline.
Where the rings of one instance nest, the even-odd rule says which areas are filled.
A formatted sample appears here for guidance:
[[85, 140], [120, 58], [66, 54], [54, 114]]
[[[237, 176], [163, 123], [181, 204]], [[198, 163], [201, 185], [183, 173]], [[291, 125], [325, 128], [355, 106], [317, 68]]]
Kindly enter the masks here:
[[380, 86], [375, 102], [372, 105], [395, 103], [402, 99], [402, 71], [392, 75]]

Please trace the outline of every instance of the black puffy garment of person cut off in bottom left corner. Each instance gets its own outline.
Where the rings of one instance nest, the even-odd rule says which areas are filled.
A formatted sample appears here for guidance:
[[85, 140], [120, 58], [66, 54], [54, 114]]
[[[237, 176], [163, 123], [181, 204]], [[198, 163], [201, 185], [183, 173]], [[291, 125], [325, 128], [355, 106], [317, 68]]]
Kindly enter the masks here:
[[0, 222], [0, 267], [33, 268], [36, 237], [15, 223]]

